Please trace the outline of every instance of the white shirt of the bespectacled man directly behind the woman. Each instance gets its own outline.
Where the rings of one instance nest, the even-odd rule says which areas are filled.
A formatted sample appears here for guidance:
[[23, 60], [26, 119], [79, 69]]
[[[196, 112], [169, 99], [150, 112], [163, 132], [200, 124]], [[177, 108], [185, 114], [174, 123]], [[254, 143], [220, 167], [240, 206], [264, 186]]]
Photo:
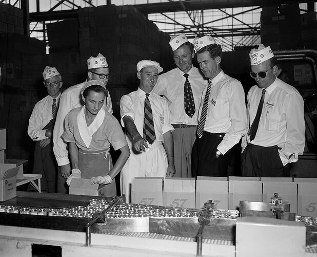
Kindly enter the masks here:
[[[61, 96], [60, 107], [58, 108], [53, 132], [53, 150], [58, 166], [64, 166], [69, 163], [66, 143], [64, 143], [63, 139], [61, 138], [62, 134], [64, 133], [64, 120], [69, 111], [84, 105], [81, 94], [84, 84], [85, 82], [67, 88]], [[105, 101], [103, 107], [107, 112], [112, 114], [111, 98], [109, 90], [107, 91], [107, 101]]]

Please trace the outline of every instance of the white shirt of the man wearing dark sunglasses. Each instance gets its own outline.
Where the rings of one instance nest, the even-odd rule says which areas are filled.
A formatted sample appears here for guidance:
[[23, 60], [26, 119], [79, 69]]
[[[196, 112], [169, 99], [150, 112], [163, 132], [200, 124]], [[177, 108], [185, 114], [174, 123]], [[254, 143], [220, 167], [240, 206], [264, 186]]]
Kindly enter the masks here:
[[[242, 140], [244, 150], [247, 142], [261, 146], [278, 145], [284, 166], [298, 160], [305, 147], [304, 101], [298, 90], [275, 78], [265, 89], [265, 98], [255, 138], [245, 135]], [[262, 88], [255, 85], [248, 92], [247, 130], [252, 124]]]

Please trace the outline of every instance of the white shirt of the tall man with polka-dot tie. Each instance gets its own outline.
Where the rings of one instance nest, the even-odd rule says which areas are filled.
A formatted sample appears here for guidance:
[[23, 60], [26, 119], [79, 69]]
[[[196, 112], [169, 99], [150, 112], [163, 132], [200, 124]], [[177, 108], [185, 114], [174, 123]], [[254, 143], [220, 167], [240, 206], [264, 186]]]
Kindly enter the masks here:
[[152, 91], [157, 95], [164, 95], [169, 100], [172, 124], [197, 125], [198, 109], [208, 80], [204, 79], [199, 69], [194, 66], [187, 72], [196, 109], [195, 114], [189, 117], [184, 110], [184, 84], [186, 81], [184, 74], [179, 68], [161, 74]]

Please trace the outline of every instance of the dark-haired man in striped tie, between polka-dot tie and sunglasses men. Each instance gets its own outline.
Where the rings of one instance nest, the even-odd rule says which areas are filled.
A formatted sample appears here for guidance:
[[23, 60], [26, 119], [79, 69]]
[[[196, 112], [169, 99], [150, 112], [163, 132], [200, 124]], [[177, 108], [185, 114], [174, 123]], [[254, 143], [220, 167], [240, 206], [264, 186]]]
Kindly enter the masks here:
[[241, 83], [221, 69], [221, 45], [211, 36], [193, 41], [197, 62], [209, 79], [199, 108], [197, 138], [192, 149], [192, 175], [228, 175], [233, 146], [245, 134], [246, 107]]

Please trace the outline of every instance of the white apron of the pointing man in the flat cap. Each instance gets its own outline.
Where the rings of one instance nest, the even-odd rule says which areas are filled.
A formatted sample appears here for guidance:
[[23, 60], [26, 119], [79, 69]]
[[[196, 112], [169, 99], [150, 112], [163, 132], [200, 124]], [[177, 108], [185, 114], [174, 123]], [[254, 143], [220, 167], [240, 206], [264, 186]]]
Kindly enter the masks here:
[[167, 155], [161, 141], [155, 141], [140, 154], [132, 150], [132, 143], [128, 142], [130, 157], [120, 174], [121, 195], [126, 195], [126, 203], [131, 201], [131, 181], [134, 177], [166, 177]]

